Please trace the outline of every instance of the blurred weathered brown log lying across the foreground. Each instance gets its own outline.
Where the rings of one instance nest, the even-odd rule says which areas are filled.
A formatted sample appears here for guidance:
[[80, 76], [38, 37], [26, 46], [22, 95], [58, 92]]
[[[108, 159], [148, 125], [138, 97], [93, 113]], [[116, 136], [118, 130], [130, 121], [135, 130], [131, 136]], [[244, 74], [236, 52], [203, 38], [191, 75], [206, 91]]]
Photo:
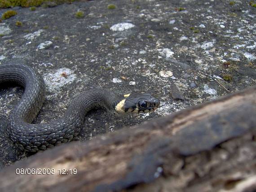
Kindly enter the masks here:
[[256, 86], [35, 154], [0, 172], [0, 191], [253, 191], [255, 136]]

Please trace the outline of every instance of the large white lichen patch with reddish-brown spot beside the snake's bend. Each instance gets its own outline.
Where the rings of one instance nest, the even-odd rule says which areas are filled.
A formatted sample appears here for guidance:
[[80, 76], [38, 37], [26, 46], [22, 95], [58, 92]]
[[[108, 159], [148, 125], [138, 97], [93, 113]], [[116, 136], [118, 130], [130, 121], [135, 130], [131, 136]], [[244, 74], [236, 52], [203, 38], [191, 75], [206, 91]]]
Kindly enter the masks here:
[[44, 74], [44, 82], [49, 92], [59, 91], [64, 85], [72, 83], [76, 79], [74, 71], [61, 68], [53, 73]]

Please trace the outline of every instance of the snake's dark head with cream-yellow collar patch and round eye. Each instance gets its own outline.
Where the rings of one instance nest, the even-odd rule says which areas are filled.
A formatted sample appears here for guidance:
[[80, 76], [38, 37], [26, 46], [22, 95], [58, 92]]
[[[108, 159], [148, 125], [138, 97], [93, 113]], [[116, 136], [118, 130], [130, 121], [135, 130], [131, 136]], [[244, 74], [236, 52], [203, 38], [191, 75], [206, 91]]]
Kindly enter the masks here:
[[149, 93], [126, 95], [115, 107], [117, 113], [150, 113], [156, 110], [160, 101]]

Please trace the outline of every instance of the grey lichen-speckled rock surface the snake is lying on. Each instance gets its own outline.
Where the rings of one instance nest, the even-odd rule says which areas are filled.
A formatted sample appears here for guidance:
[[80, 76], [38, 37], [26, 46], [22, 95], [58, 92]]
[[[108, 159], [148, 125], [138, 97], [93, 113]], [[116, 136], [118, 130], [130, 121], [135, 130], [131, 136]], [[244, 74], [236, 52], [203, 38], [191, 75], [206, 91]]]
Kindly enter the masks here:
[[[116, 9], [107, 9], [108, 4]], [[90, 140], [227, 93], [196, 70], [219, 77], [231, 92], [255, 84], [256, 8], [247, 1], [230, 5], [221, 0], [97, 0], [38, 7], [33, 12], [15, 9], [17, 15], [0, 23], [0, 63], [30, 65], [52, 83], [34, 123], [58, 118], [70, 100], [89, 87], [124, 94], [150, 92], [162, 101], [156, 113], [146, 116], [92, 111], [77, 140]], [[0, 15], [6, 10], [1, 9]], [[84, 17], [75, 17], [77, 11], [83, 11]], [[16, 21], [22, 26], [15, 26]], [[121, 23], [131, 25], [111, 30], [124, 26]], [[52, 44], [38, 48], [47, 41]], [[161, 71], [171, 71], [172, 76], [163, 77]], [[231, 81], [224, 78], [227, 74]], [[165, 93], [172, 84], [185, 100], [173, 100]], [[6, 119], [21, 95], [20, 87], [0, 89], [0, 161], [5, 165], [31, 155], [15, 148], [6, 132]]]

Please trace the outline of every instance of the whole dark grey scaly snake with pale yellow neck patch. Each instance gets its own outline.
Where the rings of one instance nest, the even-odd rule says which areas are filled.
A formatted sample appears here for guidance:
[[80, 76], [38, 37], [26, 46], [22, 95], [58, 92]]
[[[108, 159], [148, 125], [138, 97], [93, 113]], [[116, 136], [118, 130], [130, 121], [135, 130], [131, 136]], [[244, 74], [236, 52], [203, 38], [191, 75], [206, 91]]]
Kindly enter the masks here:
[[120, 96], [100, 87], [88, 88], [75, 96], [61, 118], [42, 124], [32, 124], [43, 106], [46, 86], [43, 77], [23, 64], [0, 65], [0, 84], [15, 83], [24, 88], [21, 99], [7, 119], [7, 132], [15, 146], [37, 152], [68, 143], [79, 134], [86, 113], [104, 108], [117, 114], [150, 113], [160, 101], [149, 93], [134, 92]]

